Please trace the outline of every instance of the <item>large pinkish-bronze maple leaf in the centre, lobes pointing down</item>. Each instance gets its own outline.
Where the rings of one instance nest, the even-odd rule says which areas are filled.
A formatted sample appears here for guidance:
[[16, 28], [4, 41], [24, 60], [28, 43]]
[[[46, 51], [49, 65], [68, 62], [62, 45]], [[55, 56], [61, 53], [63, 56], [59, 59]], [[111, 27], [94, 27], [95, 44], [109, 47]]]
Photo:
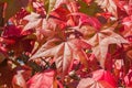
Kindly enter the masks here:
[[70, 40], [62, 42], [58, 38], [47, 41], [32, 57], [36, 59], [40, 57], [53, 57], [55, 59], [56, 68], [63, 74], [67, 74], [73, 59], [79, 59], [82, 64], [87, 65], [87, 55], [84, 50], [90, 48], [90, 45], [82, 40]]

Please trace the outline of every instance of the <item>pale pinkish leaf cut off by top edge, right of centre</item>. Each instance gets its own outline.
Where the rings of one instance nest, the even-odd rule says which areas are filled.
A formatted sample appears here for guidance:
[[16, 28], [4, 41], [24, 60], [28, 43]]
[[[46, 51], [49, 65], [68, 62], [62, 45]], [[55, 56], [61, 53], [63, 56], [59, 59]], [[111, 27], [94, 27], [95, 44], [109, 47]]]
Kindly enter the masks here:
[[98, 6], [100, 6], [105, 11], [107, 10], [118, 18], [117, 4], [114, 0], [96, 0], [95, 2], [97, 2]]

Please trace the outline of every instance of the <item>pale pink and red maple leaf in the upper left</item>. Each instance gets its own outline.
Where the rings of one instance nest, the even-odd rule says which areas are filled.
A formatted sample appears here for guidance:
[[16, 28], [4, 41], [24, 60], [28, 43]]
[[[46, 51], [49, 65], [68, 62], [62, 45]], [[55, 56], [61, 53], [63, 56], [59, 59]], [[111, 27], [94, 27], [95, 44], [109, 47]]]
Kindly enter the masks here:
[[24, 26], [23, 32], [35, 29], [36, 36], [45, 35], [47, 37], [54, 36], [57, 29], [65, 26], [65, 21], [57, 19], [56, 16], [46, 18], [37, 13], [31, 13], [24, 18], [29, 23]]

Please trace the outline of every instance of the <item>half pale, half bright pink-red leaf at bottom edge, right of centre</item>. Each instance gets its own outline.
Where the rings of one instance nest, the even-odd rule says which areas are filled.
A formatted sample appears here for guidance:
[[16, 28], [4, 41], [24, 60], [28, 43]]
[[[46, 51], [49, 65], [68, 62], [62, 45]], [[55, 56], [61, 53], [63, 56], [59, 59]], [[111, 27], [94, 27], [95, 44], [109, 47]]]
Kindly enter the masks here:
[[109, 72], [99, 69], [92, 73], [92, 77], [80, 79], [77, 88], [116, 88], [114, 79]]

